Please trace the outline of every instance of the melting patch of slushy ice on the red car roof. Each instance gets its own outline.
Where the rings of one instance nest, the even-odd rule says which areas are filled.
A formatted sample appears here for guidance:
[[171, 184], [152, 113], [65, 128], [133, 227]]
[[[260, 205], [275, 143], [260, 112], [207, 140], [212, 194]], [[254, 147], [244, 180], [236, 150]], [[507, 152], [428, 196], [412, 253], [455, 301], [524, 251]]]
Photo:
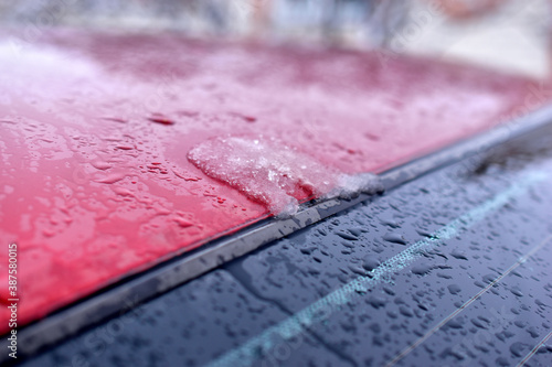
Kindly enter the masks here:
[[203, 142], [188, 159], [208, 176], [223, 181], [275, 215], [294, 215], [299, 202], [355, 196], [381, 191], [370, 173], [346, 175], [274, 138], [217, 138]]

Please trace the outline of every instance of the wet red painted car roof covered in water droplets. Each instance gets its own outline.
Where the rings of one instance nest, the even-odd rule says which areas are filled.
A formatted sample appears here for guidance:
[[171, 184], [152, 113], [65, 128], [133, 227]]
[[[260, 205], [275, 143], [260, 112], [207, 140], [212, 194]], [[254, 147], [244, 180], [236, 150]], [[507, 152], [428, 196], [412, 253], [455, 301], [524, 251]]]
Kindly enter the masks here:
[[208, 139], [378, 173], [539, 102], [534, 82], [488, 69], [176, 35], [3, 37], [0, 65], [0, 241], [18, 244], [23, 323], [269, 216], [190, 163]]

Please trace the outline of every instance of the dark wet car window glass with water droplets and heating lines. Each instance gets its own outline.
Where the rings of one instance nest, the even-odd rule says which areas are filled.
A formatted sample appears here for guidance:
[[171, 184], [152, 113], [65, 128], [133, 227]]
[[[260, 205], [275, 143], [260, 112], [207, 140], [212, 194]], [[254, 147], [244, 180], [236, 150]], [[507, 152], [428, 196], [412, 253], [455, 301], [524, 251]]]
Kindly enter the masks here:
[[516, 366], [528, 357], [527, 366], [549, 366], [551, 137], [538, 131], [374, 197], [25, 366]]

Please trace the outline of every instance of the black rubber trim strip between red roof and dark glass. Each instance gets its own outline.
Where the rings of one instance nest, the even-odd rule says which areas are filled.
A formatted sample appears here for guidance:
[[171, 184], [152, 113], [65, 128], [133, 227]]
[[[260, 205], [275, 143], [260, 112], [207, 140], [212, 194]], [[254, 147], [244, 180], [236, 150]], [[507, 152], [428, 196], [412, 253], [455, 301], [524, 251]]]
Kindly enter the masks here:
[[[380, 174], [385, 190], [394, 188], [411, 180], [453, 164], [466, 158], [476, 158], [490, 148], [522, 137], [552, 125], [552, 106], [503, 123], [484, 133], [470, 137], [438, 152], [415, 159], [406, 164]], [[110, 316], [123, 314], [131, 307], [167, 292], [185, 281], [201, 276], [251, 252], [268, 242], [290, 235], [361, 202], [370, 195], [360, 194], [349, 201], [332, 198], [310, 202], [290, 218], [264, 219], [233, 235], [213, 240], [195, 250], [162, 262], [139, 274], [128, 277], [78, 302], [75, 302], [43, 320], [18, 331], [18, 356], [24, 357], [59, 343]], [[19, 358], [21, 360], [21, 358]], [[0, 361], [8, 360], [7, 354]]]

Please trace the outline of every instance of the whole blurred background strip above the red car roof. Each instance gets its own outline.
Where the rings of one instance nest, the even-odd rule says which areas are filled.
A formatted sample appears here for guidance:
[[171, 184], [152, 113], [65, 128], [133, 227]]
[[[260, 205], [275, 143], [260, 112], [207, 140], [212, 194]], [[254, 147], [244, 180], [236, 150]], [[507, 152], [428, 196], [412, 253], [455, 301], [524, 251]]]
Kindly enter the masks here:
[[[548, 78], [552, 0], [0, 0], [26, 42], [56, 26], [422, 54]], [[21, 33], [20, 33], [21, 34]]]

